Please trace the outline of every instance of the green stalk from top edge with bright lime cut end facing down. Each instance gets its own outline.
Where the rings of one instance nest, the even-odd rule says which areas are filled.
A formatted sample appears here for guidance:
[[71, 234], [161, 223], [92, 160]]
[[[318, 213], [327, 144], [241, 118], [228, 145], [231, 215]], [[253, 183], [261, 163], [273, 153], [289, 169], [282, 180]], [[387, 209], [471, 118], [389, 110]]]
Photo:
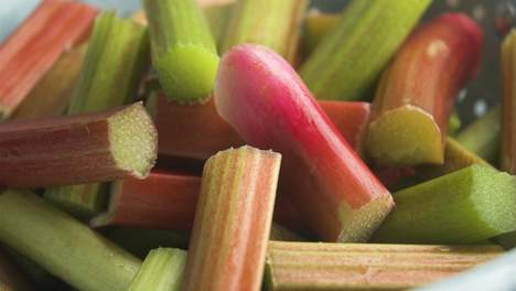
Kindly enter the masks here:
[[144, 0], [152, 65], [169, 100], [202, 101], [218, 67], [215, 41], [193, 0]]

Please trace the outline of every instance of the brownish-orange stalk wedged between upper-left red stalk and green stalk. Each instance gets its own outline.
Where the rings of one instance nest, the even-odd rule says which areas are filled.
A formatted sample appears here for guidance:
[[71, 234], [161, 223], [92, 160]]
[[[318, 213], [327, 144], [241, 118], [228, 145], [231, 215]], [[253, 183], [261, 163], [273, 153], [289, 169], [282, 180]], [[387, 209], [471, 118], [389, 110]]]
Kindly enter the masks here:
[[64, 53], [23, 100], [12, 119], [57, 117], [65, 112], [77, 85], [87, 44]]

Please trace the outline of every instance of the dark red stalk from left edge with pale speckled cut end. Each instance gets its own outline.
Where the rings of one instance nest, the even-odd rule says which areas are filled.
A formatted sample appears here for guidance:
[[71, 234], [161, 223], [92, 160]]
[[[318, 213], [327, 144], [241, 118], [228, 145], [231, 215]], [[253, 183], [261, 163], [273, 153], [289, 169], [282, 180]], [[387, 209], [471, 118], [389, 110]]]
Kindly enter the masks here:
[[0, 126], [0, 185], [43, 187], [144, 177], [155, 128], [141, 103]]

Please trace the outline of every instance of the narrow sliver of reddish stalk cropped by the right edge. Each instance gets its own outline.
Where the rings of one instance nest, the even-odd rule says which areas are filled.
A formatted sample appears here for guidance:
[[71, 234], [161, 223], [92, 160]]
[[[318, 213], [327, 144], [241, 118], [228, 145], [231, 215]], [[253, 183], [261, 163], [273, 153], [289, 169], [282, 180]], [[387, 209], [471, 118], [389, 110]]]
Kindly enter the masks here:
[[516, 174], [516, 30], [502, 44], [502, 150], [501, 166]]

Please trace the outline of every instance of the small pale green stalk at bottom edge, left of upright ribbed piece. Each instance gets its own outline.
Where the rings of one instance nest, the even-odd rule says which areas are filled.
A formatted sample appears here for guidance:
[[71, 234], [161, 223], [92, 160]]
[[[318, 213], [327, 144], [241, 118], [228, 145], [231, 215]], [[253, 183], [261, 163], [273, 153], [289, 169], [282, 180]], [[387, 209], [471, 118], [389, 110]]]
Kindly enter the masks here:
[[181, 291], [186, 251], [158, 248], [151, 250], [131, 282], [129, 291]]

